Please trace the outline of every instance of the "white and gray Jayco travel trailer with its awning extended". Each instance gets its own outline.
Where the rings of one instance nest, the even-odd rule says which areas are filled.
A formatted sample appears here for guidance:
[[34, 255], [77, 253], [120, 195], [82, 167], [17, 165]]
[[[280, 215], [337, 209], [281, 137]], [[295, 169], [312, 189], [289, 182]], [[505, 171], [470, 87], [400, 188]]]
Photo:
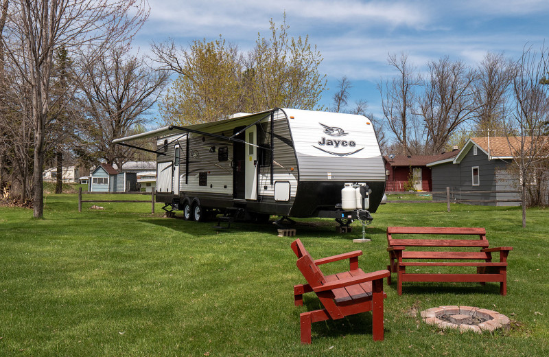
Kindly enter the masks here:
[[234, 211], [348, 224], [371, 219], [384, 195], [382, 154], [362, 115], [274, 108], [113, 142], [137, 148], [132, 141], [152, 137], [156, 201], [187, 220]]

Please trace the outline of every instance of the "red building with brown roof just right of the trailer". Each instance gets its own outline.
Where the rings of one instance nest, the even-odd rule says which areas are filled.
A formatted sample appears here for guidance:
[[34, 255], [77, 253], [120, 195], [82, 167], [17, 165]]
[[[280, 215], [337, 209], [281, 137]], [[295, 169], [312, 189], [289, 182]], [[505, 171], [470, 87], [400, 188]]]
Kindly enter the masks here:
[[406, 191], [412, 184], [416, 191], [432, 191], [431, 168], [428, 163], [455, 157], [458, 150], [438, 155], [397, 155], [392, 159], [384, 156], [387, 175], [386, 192]]

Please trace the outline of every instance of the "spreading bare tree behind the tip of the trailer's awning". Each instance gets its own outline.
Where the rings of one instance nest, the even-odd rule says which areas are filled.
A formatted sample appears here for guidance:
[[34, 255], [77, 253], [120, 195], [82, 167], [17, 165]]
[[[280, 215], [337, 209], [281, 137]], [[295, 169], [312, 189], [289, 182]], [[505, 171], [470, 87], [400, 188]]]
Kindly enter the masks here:
[[110, 49], [99, 60], [85, 61], [78, 98], [82, 114], [82, 136], [93, 152], [107, 163], [122, 165], [135, 150], [112, 143], [143, 129], [146, 114], [165, 88], [169, 73], [148, 67], [144, 58], [129, 56], [125, 47]]

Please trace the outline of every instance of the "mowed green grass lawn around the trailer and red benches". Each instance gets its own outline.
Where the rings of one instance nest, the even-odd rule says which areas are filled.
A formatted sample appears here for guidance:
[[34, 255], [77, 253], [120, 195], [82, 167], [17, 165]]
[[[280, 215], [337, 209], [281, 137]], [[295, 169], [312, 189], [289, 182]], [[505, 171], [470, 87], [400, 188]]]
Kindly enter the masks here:
[[[136, 196], [138, 199], [140, 196]], [[118, 199], [119, 197], [117, 197]], [[185, 222], [150, 214], [148, 203], [102, 203], [78, 213], [74, 194], [48, 194], [45, 219], [0, 207], [0, 356], [543, 356], [549, 354], [549, 216], [517, 207], [384, 205], [367, 229], [372, 242], [336, 235], [331, 220], [299, 220], [313, 257], [362, 249], [365, 271], [386, 267], [390, 225], [486, 227], [491, 245], [513, 246], [508, 295], [498, 284], [408, 283], [399, 297], [384, 286], [385, 341], [374, 343], [371, 315], [314, 323], [299, 342], [293, 305], [303, 282], [290, 249], [270, 224]], [[156, 211], [161, 211], [156, 205]], [[338, 262], [325, 273], [344, 270]], [[418, 312], [441, 305], [497, 310], [507, 332], [438, 331]]]

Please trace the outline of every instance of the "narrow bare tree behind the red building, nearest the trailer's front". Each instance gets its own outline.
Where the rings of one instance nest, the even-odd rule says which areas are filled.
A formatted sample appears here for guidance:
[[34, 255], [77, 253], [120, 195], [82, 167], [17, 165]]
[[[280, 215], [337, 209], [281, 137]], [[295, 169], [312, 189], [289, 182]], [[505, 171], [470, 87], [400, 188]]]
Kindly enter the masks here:
[[395, 135], [401, 153], [410, 152], [410, 127], [414, 126], [412, 105], [415, 87], [420, 84], [415, 67], [408, 62], [408, 54], [388, 54], [387, 65], [397, 70], [398, 76], [379, 82], [377, 89], [382, 96], [382, 110], [385, 122]]

